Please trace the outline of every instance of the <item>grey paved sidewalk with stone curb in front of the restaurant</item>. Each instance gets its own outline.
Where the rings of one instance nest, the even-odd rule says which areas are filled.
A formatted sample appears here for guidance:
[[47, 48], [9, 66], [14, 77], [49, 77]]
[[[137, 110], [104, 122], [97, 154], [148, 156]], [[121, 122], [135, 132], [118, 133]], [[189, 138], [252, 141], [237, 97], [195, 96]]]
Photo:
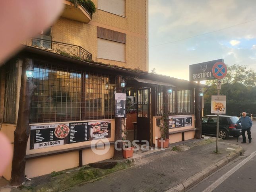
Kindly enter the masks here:
[[[190, 188], [242, 153], [235, 144], [219, 142], [216, 154], [216, 138], [187, 140], [171, 145], [167, 150], [137, 151], [134, 165], [94, 180], [74, 186], [67, 191], [182, 191]], [[174, 147], [174, 148], [173, 148]], [[173, 150], [175, 151], [173, 151]], [[65, 174], [64, 174], [65, 175]], [[44, 176], [43, 176], [44, 177]], [[45, 179], [32, 181], [47, 184]], [[54, 178], [58, 180], [58, 177]], [[63, 178], [60, 178], [60, 182]], [[40, 180], [40, 182], [38, 182]], [[8, 190], [8, 188], [1, 188]], [[22, 189], [27, 191], [28, 189]], [[12, 191], [21, 191], [12, 189]], [[36, 190], [29, 190], [36, 191]]]

